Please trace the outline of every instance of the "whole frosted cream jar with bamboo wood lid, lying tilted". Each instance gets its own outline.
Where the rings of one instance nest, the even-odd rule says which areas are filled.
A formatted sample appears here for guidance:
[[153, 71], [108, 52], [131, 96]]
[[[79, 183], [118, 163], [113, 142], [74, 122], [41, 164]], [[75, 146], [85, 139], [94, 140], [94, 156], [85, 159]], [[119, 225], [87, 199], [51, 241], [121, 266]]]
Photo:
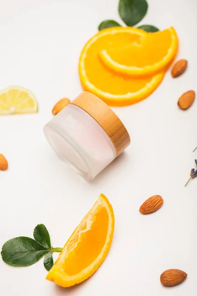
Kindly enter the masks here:
[[96, 177], [130, 145], [122, 121], [89, 92], [49, 121], [44, 134], [59, 157], [86, 179]]

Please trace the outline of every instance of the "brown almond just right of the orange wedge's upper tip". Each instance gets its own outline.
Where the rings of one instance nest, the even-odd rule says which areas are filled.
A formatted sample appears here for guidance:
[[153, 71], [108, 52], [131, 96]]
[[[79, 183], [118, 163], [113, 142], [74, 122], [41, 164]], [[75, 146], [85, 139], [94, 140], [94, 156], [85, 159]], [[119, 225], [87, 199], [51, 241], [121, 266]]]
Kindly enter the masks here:
[[149, 197], [140, 207], [139, 212], [142, 214], [151, 214], [157, 211], [164, 203], [162, 196], [154, 195]]

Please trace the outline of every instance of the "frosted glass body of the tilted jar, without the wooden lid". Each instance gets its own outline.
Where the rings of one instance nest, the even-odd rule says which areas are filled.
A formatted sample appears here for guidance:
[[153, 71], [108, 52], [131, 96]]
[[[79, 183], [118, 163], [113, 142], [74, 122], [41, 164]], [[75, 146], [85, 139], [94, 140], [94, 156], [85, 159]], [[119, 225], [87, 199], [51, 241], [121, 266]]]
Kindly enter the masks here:
[[117, 156], [99, 123], [72, 104], [44, 126], [44, 133], [59, 157], [87, 179], [96, 177]]

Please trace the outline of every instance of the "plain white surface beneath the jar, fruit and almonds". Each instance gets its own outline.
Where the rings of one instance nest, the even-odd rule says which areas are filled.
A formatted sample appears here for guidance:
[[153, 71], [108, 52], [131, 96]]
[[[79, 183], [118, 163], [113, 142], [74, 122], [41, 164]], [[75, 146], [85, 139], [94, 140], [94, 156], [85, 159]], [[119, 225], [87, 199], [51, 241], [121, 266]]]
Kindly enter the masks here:
[[[108, 257], [86, 282], [63, 289], [44, 280], [43, 262], [17, 268], [0, 260], [4, 296], [196, 296], [197, 180], [184, 188], [197, 152], [197, 102], [188, 111], [177, 99], [196, 87], [196, 0], [149, 0], [141, 24], [174, 26], [179, 57], [188, 71], [177, 79], [167, 73], [145, 101], [114, 108], [131, 135], [131, 146], [93, 182], [87, 183], [59, 161], [42, 127], [60, 98], [80, 91], [77, 63], [84, 43], [99, 22], [119, 21], [114, 0], [0, 0], [0, 88], [31, 89], [39, 113], [0, 117], [0, 153], [9, 170], [0, 172], [0, 246], [33, 235], [44, 223], [52, 244], [62, 247], [100, 192], [113, 205], [114, 240]], [[141, 203], [160, 194], [164, 206], [143, 216]], [[188, 273], [174, 288], [160, 284], [168, 268]]]

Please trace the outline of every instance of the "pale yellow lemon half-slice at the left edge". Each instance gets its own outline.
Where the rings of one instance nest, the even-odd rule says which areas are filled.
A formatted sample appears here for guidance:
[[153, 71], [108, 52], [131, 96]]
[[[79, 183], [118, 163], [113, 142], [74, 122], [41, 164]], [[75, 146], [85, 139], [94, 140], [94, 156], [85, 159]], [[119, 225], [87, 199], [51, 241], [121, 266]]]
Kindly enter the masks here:
[[36, 113], [37, 111], [37, 100], [27, 88], [9, 86], [0, 91], [0, 115]]

